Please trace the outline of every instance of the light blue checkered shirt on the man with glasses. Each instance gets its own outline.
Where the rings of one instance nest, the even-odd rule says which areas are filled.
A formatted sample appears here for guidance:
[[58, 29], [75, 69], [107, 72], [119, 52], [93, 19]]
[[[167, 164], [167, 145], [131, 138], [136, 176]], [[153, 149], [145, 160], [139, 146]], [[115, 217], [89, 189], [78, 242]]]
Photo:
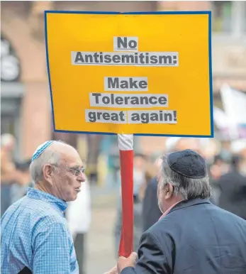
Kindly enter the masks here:
[[74, 274], [79, 266], [65, 219], [67, 203], [29, 188], [1, 218], [1, 273]]

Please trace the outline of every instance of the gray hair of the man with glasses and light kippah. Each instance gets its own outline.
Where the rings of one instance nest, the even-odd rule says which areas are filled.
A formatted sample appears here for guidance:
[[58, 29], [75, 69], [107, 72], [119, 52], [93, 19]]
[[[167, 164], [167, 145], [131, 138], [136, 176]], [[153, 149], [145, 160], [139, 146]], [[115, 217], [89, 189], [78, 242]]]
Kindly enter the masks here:
[[[63, 143], [67, 146], [69, 146], [67, 143], [63, 141], [53, 141], [52, 145], [55, 143]], [[51, 146], [52, 146], [51, 145]], [[50, 164], [54, 165], [54, 168], [59, 165], [60, 163], [60, 152], [52, 149], [47, 148], [37, 159], [33, 160], [32, 163], [30, 163], [30, 176], [33, 180], [33, 182], [39, 182], [40, 180], [43, 180], [43, 167], [44, 165]]]

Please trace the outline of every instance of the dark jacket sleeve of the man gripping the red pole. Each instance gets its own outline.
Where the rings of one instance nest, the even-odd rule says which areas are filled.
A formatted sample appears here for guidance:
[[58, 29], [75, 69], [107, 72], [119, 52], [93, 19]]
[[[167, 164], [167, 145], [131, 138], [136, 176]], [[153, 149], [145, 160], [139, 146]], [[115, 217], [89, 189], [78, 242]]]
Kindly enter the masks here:
[[128, 267], [121, 274], [169, 274], [172, 273], [160, 242], [151, 232], [142, 234], [135, 268]]

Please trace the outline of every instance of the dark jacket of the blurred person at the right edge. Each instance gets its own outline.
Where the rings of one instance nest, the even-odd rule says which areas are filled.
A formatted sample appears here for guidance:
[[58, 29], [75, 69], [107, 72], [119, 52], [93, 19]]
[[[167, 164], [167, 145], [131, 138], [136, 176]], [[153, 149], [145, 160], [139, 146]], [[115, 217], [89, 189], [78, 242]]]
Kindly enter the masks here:
[[233, 170], [221, 176], [218, 185], [220, 187], [218, 206], [246, 219], [246, 177]]

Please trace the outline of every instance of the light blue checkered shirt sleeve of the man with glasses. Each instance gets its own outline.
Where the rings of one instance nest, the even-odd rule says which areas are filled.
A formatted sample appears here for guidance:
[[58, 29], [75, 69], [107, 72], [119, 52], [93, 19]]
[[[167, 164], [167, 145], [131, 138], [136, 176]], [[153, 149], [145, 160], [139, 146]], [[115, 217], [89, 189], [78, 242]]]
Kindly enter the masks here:
[[33, 242], [33, 273], [70, 274], [70, 251], [65, 224], [45, 226], [44, 223]]

